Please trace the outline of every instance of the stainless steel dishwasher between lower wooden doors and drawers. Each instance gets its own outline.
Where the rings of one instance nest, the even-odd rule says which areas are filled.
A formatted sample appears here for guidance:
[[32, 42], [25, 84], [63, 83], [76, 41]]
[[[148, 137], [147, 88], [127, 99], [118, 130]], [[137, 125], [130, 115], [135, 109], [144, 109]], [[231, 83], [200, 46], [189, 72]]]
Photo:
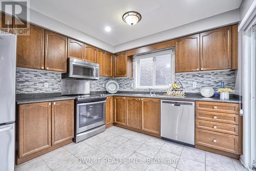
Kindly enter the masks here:
[[161, 100], [161, 137], [195, 146], [195, 102]]

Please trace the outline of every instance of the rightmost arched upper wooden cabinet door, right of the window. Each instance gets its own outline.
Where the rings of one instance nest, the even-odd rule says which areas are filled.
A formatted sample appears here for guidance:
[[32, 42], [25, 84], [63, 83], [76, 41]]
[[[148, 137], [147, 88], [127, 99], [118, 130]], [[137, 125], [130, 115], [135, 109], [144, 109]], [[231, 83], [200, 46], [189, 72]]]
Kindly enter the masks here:
[[200, 34], [201, 71], [231, 69], [231, 26]]

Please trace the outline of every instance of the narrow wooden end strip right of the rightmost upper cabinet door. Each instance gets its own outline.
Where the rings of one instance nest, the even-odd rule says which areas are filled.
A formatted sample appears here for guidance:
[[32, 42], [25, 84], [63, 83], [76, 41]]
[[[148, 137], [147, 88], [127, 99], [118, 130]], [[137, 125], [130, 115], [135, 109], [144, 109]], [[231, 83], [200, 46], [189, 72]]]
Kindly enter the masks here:
[[232, 25], [232, 69], [238, 69], [238, 25]]

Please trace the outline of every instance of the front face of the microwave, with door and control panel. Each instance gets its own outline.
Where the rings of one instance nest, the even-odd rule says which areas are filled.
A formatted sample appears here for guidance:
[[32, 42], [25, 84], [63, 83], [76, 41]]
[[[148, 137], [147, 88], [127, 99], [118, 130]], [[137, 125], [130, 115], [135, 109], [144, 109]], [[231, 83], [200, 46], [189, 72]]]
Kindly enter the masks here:
[[70, 62], [69, 77], [99, 79], [99, 68], [89, 64], [86, 65], [86, 64], [81, 64], [79, 62]]

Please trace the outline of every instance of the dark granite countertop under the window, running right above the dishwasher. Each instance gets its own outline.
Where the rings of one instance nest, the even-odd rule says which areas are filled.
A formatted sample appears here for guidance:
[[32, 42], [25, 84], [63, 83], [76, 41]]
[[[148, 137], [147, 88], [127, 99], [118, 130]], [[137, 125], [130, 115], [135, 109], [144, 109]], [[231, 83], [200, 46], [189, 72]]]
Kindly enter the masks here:
[[91, 92], [91, 94], [103, 94], [105, 96], [125, 96], [125, 97], [140, 97], [140, 98], [158, 98], [167, 100], [179, 100], [179, 101], [210, 101], [210, 102], [226, 102], [226, 103], [239, 103], [239, 96], [230, 94], [229, 100], [221, 100], [219, 97], [203, 97], [200, 93], [186, 93], [184, 98], [163, 96], [164, 92], [156, 92], [155, 96], [151, 96], [149, 92], [118, 92], [116, 94], [108, 94], [106, 92]]

